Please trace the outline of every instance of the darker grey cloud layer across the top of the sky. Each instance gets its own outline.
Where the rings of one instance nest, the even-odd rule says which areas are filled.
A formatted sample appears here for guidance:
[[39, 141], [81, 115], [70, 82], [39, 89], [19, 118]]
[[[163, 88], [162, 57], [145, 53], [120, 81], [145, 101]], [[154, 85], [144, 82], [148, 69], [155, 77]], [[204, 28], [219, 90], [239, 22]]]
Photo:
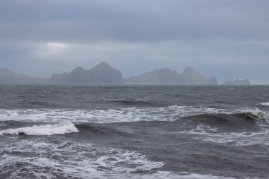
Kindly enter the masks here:
[[6, 41], [268, 40], [268, 1], [0, 1]]

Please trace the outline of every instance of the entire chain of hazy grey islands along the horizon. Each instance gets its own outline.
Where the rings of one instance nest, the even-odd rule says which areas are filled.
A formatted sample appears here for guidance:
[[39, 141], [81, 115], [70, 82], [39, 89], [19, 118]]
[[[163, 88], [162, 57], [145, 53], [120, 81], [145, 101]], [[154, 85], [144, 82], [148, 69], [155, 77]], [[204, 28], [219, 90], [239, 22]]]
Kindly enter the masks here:
[[[171, 69], [156, 69], [138, 76], [122, 78], [118, 69], [101, 62], [92, 69], [76, 67], [69, 73], [52, 74], [50, 78], [38, 78], [17, 74], [10, 69], [0, 69], [0, 83], [86, 83], [86, 84], [149, 84], [149, 85], [217, 85], [217, 77], [206, 78], [191, 67], [182, 74]], [[246, 80], [226, 81], [224, 85], [249, 85]]]

